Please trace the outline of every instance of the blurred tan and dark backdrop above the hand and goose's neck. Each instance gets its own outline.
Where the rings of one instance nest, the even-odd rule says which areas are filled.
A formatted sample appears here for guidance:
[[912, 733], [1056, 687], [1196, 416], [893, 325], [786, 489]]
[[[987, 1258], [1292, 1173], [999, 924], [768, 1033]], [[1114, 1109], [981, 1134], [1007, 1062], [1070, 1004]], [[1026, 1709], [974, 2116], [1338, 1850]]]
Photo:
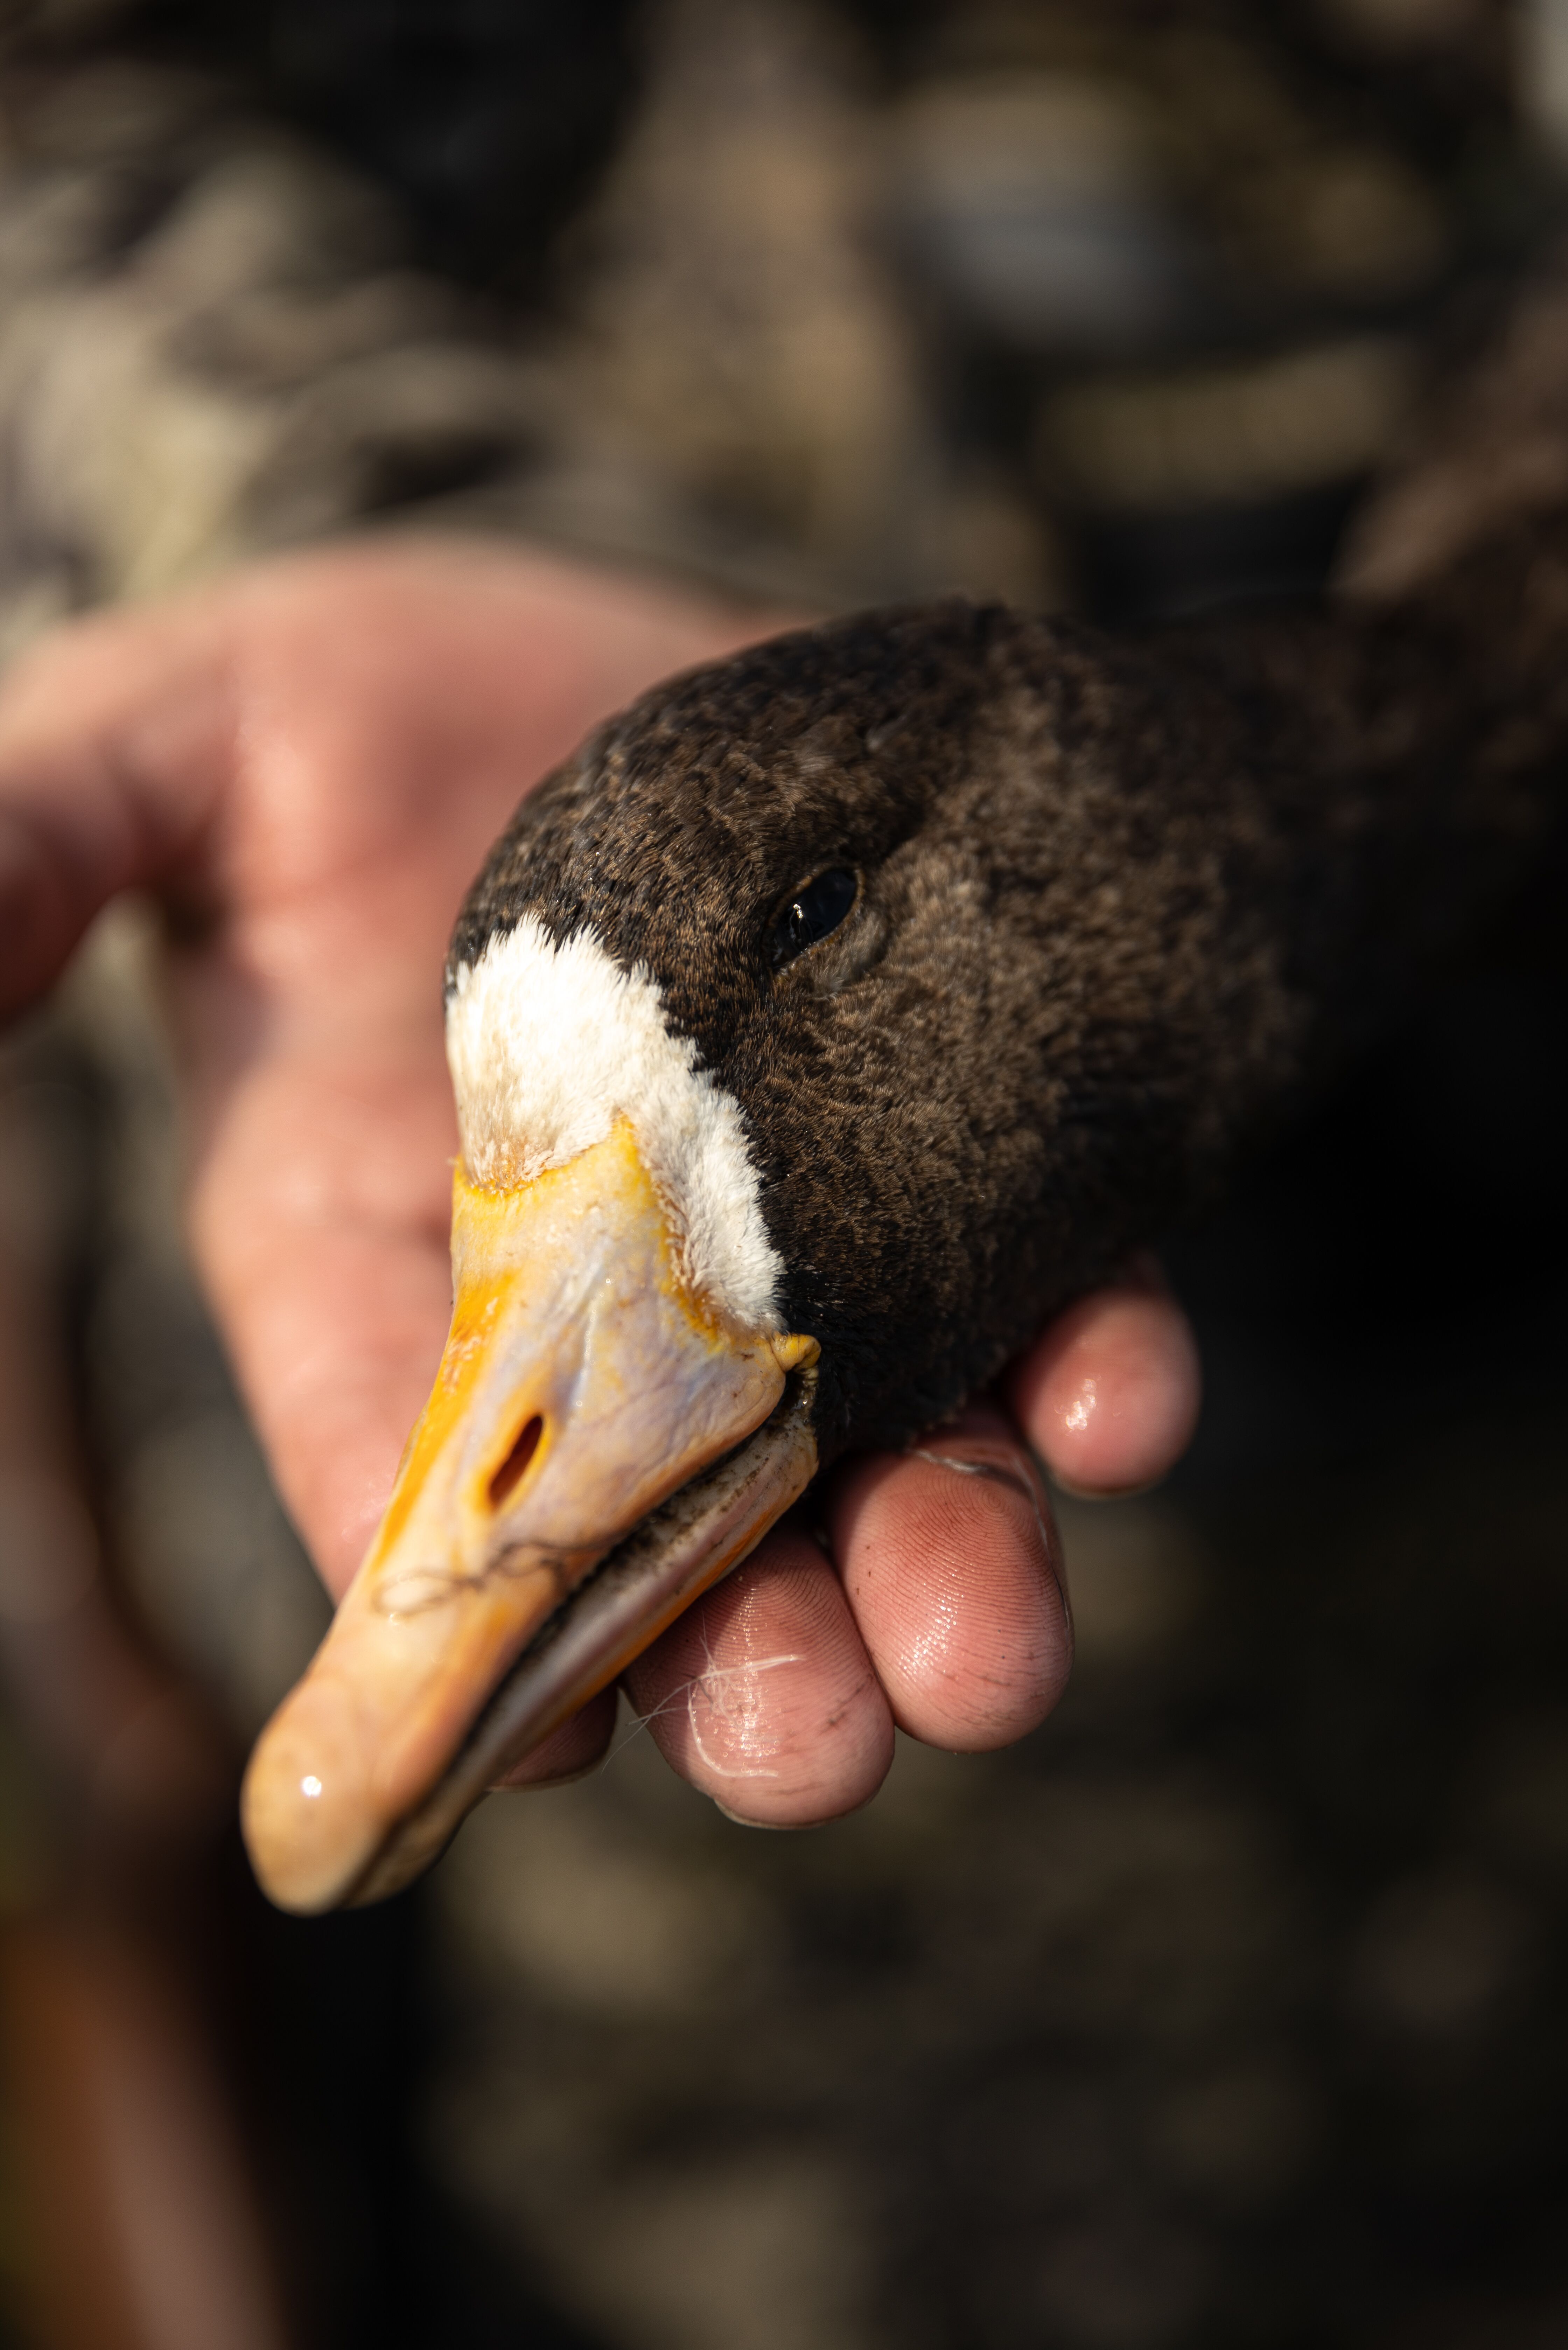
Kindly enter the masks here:
[[388, 519], [1060, 599], [1342, 503], [1540, 209], [1465, 0], [7, 16], [12, 642]]

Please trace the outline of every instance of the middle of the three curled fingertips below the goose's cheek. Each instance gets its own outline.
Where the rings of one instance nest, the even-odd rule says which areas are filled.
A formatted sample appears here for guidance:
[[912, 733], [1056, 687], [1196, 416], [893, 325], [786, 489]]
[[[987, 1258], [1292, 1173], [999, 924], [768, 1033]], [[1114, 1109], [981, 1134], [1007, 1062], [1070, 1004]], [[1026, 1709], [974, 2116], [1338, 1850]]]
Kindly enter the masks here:
[[1046, 1490], [1001, 1412], [971, 1405], [903, 1459], [846, 1464], [827, 1528], [900, 1730], [978, 1753], [1044, 1720], [1072, 1626]]

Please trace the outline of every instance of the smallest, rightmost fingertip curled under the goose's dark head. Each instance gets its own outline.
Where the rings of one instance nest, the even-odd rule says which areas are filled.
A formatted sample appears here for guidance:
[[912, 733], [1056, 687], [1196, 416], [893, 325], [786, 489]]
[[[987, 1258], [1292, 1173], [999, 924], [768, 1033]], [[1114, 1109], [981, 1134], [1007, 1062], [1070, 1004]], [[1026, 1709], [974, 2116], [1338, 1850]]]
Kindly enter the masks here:
[[1192, 1325], [1152, 1260], [1060, 1314], [1001, 1391], [1067, 1492], [1138, 1492], [1192, 1441], [1201, 1372]]

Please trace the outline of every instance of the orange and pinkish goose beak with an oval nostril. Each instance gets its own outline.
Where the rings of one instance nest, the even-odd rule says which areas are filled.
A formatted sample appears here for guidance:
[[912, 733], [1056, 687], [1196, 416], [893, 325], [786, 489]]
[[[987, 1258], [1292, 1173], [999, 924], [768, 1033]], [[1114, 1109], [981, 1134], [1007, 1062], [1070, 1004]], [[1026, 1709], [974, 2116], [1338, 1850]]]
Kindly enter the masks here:
[[451, 1267], [381, 1530], [244, 1779], [280, 1908], [418, 1875], [816, 1471], [816, 1340], [691, 1295], [630, 1126], [508, 1191], [458, 1168]]

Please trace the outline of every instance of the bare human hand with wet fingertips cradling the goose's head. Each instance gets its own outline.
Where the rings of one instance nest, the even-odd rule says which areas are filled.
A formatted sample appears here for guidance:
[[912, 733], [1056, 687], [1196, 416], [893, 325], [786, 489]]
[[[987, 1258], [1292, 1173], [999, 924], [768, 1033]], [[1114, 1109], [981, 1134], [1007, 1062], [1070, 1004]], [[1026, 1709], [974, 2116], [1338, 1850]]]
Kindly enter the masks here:
[[[169, 916], [190, 1229], [240, 1384], [339, 1596], [449, 1311], [440, 971], [522, 792], [752, 616], [543, 555], [362, 545], [61, 630], [0, 693], [0, 1010], [143, 886]], [[825, 1819], [893, 1723], [999, 1746], [1060, 1694], [1070, 1629], [1030, 1445], [1079, 1492], [1175, 1459], [1197, 1356], [1157, 1278], [1081, 1300], [959, 1424], [849, 1462], [628, 1673], [729, 1812]], [[957, 1466], [954, 1466], [957, 1464]], [[611, 1699], [515, 1784], [581, 1770]]]

